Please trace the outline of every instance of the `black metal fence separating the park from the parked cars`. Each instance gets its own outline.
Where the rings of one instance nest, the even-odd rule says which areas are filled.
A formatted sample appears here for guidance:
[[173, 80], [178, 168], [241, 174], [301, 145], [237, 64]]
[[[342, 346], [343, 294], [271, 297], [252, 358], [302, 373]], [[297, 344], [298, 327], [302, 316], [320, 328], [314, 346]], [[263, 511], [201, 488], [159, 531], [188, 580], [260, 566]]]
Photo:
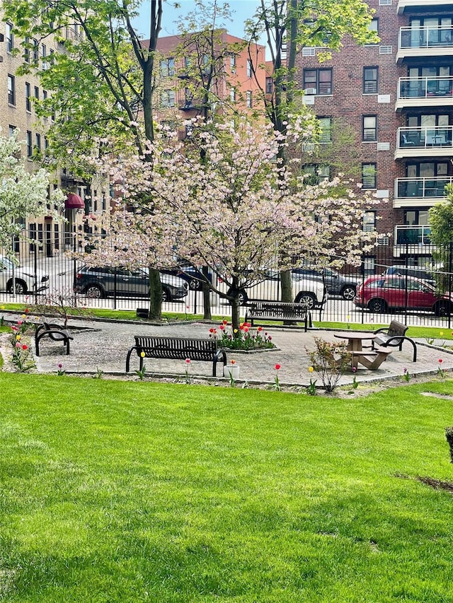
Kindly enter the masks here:
[[[89, 271], [63, 251], [51, 254], [45, 247], [35, 251], [29, 244], [16, 244], [20, 264], [2, 260], [1, 303], [38, 303], [50, 295], [63, 295], [68, 305], [116, 310], [146, 308], [146, 269]], [[358, 267], [326, 270], [328, 301], [323, 321], [345, 324], [382, 324], [397, 317], [407, 324], [451, 328], [453, 290], [452, 245], [434, 248], [425, 241], [398, 247], [380, 246], [362, 257]], [[312, 268], [311, 262], [308, 265]], [[183, 278], [182, 278], [183, 277]], [[369, 283], [369, 277], [374, 277]], [[378, 278], [379, 277], [379, 278]], [[320, 275], [294, 276], [294, 298], [301, 292], [316, 294]], [[163, 274], [164, 311], [183, 315], [203, 312], [203, 295], [193, 274]], [[318, 282], [319, 284], [319, 282]], [[222, 283], [216, 280], [222, 289]], [[355, 295], [356, 293], [356, 295]], [[244, 290], [245, 299], [280, 299], [280, 281], [275, 273]], [[228, 317], [231, 308], [218, 293], [211, 293], [212, 315]], [[315, 312], [316, 316], [316, 312]]]

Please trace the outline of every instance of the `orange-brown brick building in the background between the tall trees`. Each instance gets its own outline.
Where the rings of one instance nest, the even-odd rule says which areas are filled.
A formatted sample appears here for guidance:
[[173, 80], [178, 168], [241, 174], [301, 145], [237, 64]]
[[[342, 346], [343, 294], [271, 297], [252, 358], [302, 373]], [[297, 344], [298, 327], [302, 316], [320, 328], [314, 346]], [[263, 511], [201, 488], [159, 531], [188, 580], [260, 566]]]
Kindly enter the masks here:
[[[159, 37], [156, 110], [160, 122], [178, 127], [186, 119], [222, 113], [226, 108], [239, 113], [263, 111], [265, 47], [255, 44], [249, 54], [239, 37], [224, 29], [214, 30], [213, 34], [212, 39], [211, 32], [205, 37], [200, 34]], [[206, 103], [208, 87], [209, 103]], [[184, 135], [181, 131], [181, 136]]]

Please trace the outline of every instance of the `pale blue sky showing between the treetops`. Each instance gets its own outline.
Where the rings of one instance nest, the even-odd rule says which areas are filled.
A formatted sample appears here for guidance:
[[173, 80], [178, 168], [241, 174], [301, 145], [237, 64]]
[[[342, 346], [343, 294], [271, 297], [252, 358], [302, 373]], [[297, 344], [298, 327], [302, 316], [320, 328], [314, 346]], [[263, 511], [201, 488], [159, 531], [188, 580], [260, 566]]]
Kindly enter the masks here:
[[[180, 8], [178, 9], [173, 8], [173, 4], [174, 0], [171, 0], [169, 3], [164, 3], [162, 30], [160, 34], [162, 36], [178, 33], [178, 26], [174, 22], [178, 20], [178, 17], [193, 11], [194, 8], [192, 0], [179, 0]], [[243, 37], [243, 22], [254, 15], [256, 8], [260, 4], [260, 0], [229, 0], [228, 4], [231, 8], [231, 18], [233, 21], [226, 21], [223, 25], [232, 35]], [[149, 37], [150, 6], [151, 3], [149, 0], [143, 0], [139, 18], [134, 21], [137, 30], [144, 35], [145, 38]]]

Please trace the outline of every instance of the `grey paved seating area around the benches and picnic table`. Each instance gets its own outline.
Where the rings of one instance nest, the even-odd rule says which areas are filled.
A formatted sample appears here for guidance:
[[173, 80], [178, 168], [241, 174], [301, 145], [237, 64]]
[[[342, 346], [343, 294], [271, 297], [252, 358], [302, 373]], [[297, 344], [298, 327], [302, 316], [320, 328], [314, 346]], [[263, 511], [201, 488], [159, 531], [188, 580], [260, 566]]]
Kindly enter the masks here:
[[[12, 321], [17, 316], [5, 316]], [[58, 322], [58, 321], [57, 321]], [[40, 344], [40, 356], [35, 358], [39, 373], [56, 373], [58, 363], [62, 363], [67, 373], [96, 373], [102, 370], [105, 377], [112, 375], [125, 375], [125, 361], [127, 350], [134, 345], [134, 335], [161, 335], [180, 337], [207, 337], [210, 327], [218, 324], [204, 324], [199, 322], [170, 323], [165, 325], [152, 325], [135, 322], [94, 322], [90, 320], [74, 320], [71, 327], [79, 327], [74, 332], [74, 341], [71, 341], [71, 353], [66, 356], [64, 348], [45, 338]], [[282, 385], [300, 387], [307, 385], [310, 377], [316, 378], [316, 373], [309, 373], [310, 360], [306, 352], [314, 351], [314, 338], [321, 337], [326, 341], [339, 340], [333, 337], [333, 331], [310, 330], [304, 333], [302, 329], [284, 327], [266, 327], [278, 349], [260, 353], [240, 353], [227, 351], [228, 361], [236, 360], [240, 366], [239, 382], [273, 384], [275, 378], [275, 364], [280, 364], [279, 378]], [[347, 332], [345, 332], [347, 334]], [[437, 341], [437, 344], [442, 342]], [[34, 342], [32, 344], [34, 349]], [[391, 379], [401, 382], [404, 369], [411, 375], [434, 375], [440, 366], [442, 369], [452, 371], [453, 353], [442, 347], [429, 346], [425, 340], [418, 340], [418, 361], [413, 363], [413, 348], [410, 343], [403, 344], [403, 350], [397, 348], [378, 370], [359, 368], [357, 373], [348, 372], [340, 385], [352, 382], [355, 376], [357, 382]], [[131, 359], [131, 374], [138, 368], [139, 358], [133, 355]], [[185, 361], [171, 361], [148, 359], [145, 362], [147, 375], [156, 376], [185, 376]], [[221, 372], [219, 365], [218, 373]], [[193, 377], [209, 378], [212, 376], [212, 365], [209, 362], [191, 363], [190, 374]]]

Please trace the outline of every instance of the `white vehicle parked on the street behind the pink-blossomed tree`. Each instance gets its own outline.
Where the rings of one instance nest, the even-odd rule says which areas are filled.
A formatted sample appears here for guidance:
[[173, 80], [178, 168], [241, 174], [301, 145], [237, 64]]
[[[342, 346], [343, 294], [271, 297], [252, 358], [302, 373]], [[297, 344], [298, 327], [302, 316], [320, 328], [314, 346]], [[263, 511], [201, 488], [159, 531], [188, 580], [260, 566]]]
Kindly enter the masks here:
[[[250, 284], [239, 289], [239, 303], [246, 304], [248, 301], [280, 301], [282, 299], [282, 288], [280, 285], [280, 274], [278, 271], [270, 270], [265, 279], [252, 281]], [[220, 286], [220, 288], [224, 288]], [[231, 290], [225, 291], [231, 294]], [[303, 274], [292, 274], [292, 300], [303, 303], [311, 308], [319, 308], [326, 299], [326, 291], [322, 276], [320, 279], [304, 278]]]

